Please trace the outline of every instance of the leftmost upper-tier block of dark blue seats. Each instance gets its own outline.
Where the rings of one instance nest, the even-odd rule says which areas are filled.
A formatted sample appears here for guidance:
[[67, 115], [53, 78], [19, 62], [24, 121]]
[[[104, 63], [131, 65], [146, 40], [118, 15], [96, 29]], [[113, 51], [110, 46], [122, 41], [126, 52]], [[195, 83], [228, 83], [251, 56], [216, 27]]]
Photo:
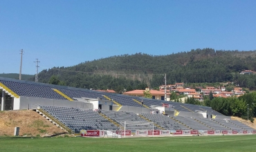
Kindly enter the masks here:
[[1, 79], [0, 82], [19, 96], [66, 100], [66, 98], [62, 97], [62, 95], [53, 91], [50, 86], [9, 82]]

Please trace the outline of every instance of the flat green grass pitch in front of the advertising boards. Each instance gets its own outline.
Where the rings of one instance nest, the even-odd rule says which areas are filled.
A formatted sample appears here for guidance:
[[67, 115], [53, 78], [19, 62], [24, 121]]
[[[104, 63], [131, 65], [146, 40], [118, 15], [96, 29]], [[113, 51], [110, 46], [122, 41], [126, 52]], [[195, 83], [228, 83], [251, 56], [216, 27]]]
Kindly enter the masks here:
[[0, 151], [256, 151], [256, 135], [141, 138], [4, 138]]

